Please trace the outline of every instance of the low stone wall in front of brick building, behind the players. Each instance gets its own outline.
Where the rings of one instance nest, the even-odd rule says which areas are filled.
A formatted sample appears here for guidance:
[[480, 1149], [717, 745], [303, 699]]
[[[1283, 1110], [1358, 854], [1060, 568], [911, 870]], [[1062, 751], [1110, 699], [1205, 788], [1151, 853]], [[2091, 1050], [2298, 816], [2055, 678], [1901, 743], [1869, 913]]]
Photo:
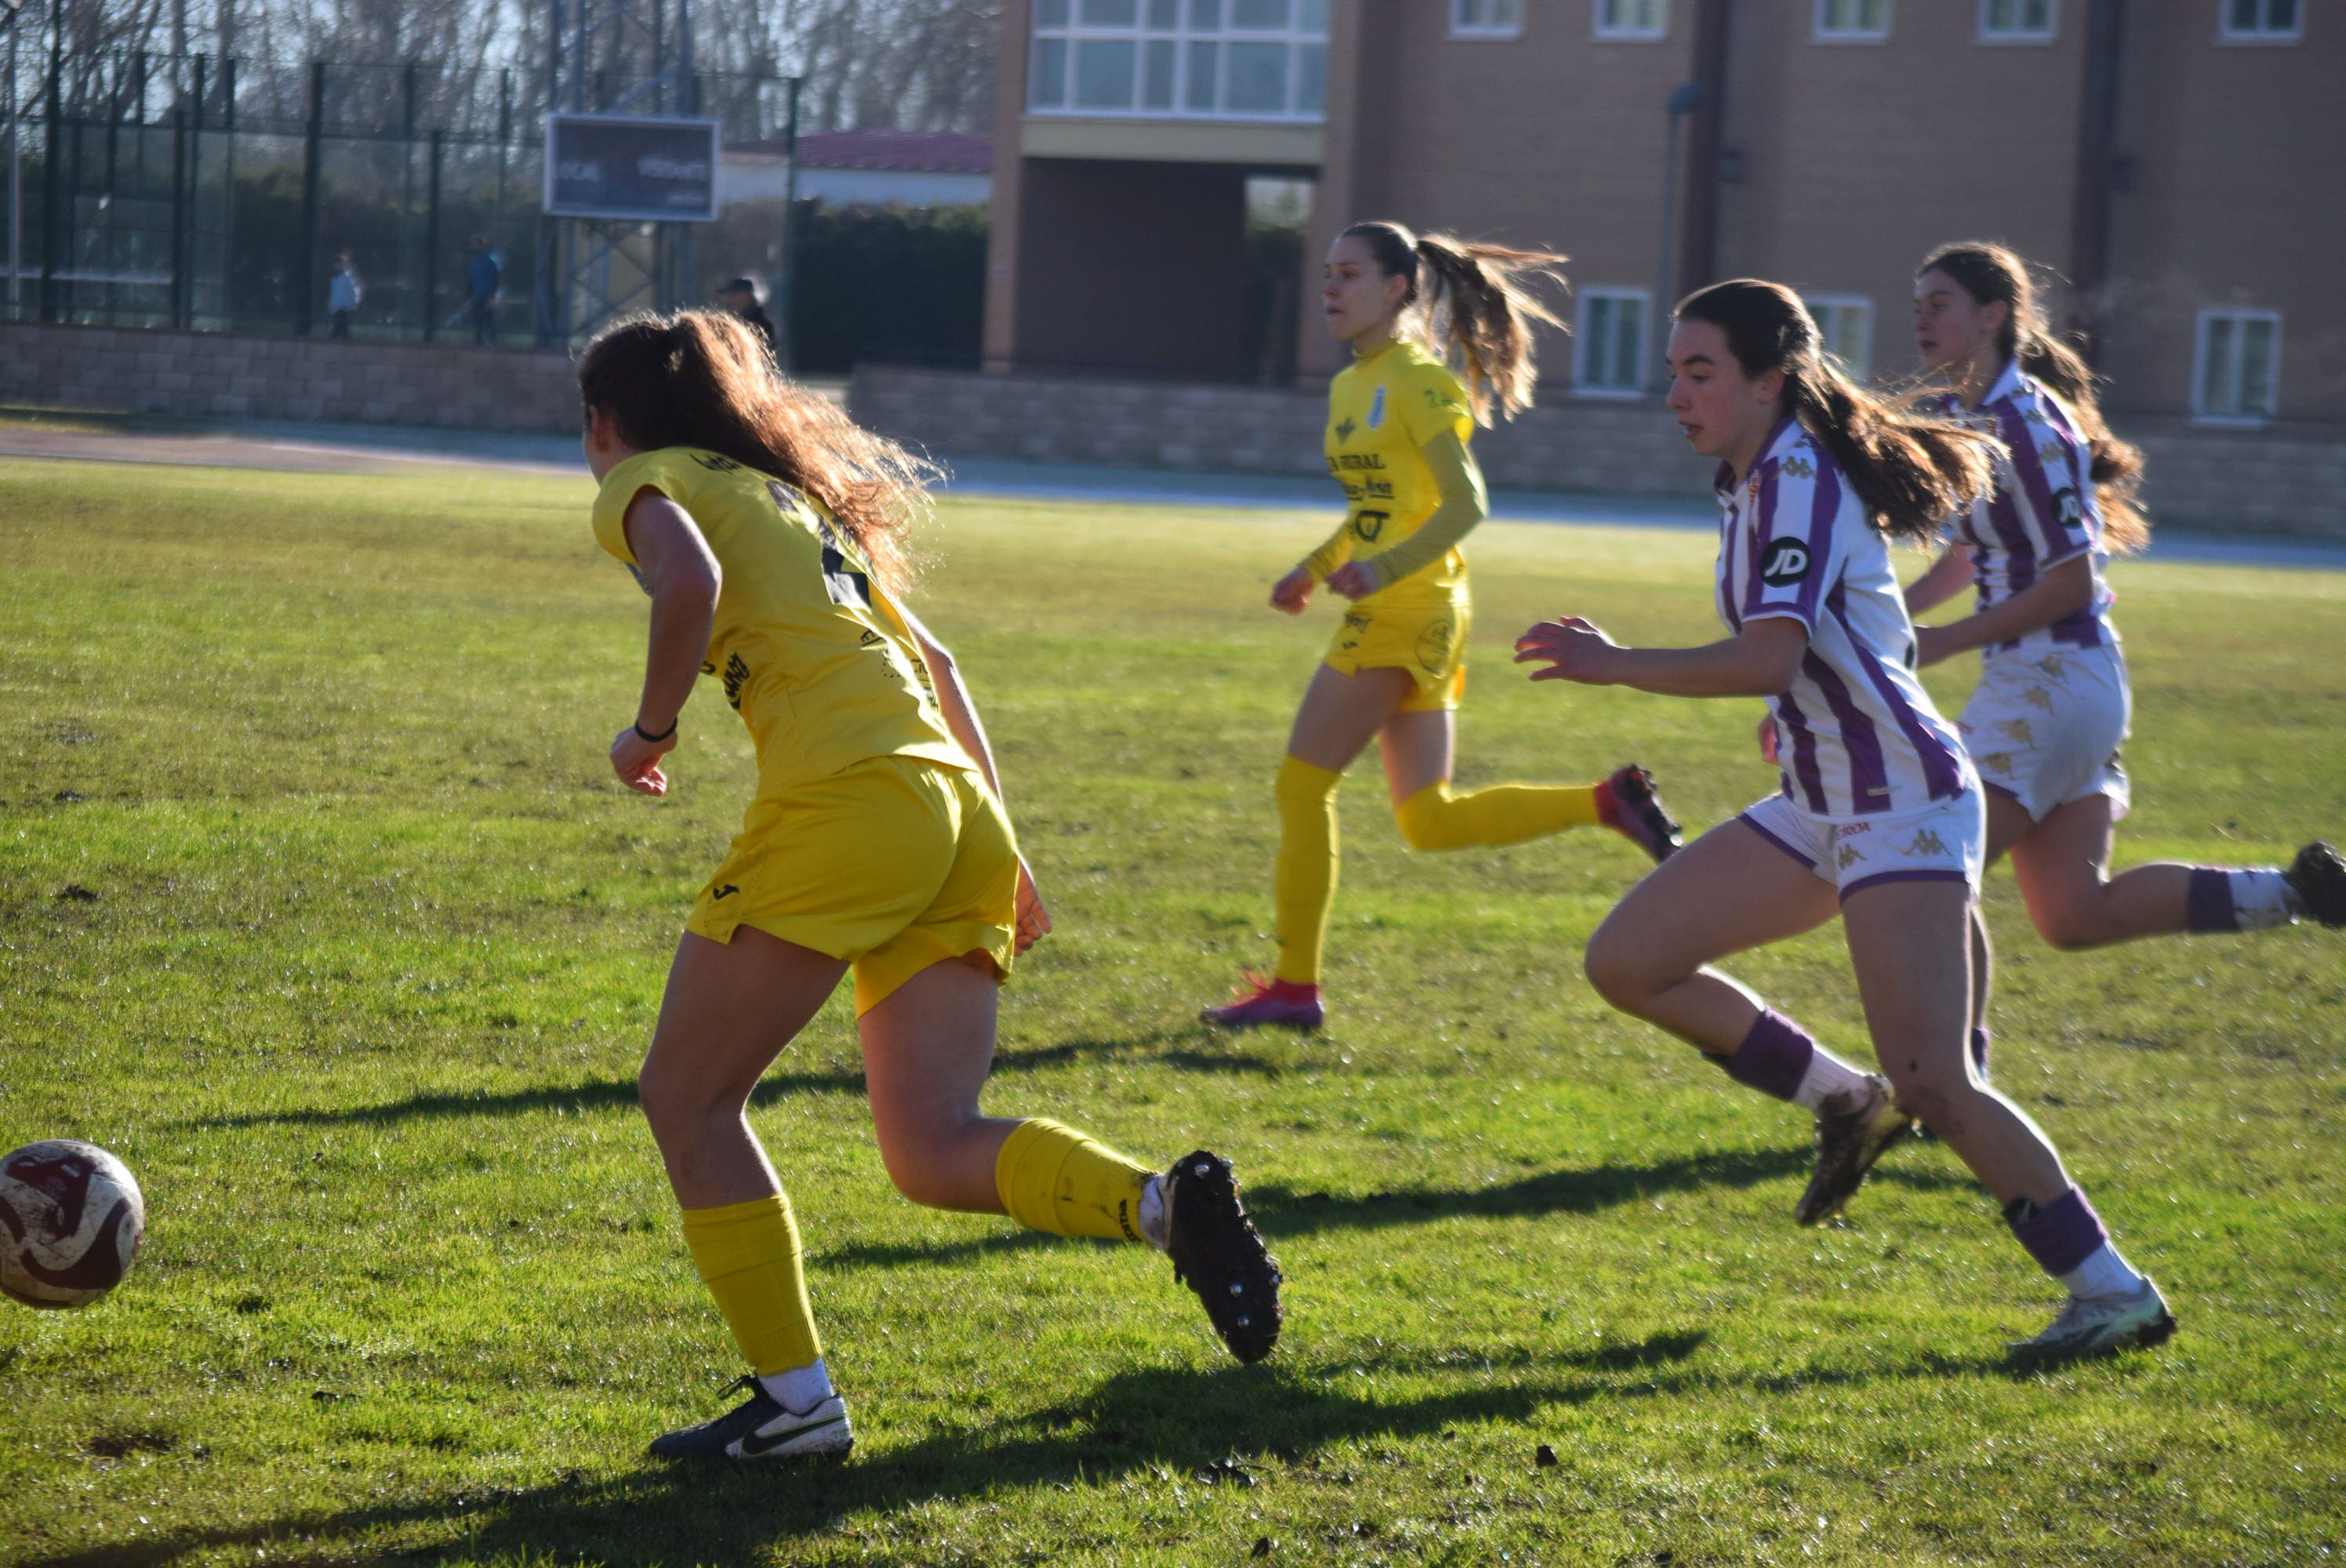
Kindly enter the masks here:
[[[847, 397], [861, 423], [945, 458], [1325, 472], [1318, 392], [861, 366]], [[2156, 526], [2346, 538], [2346, 430], [2137, 420], [2121, 434], [2149, 460]], [[1558, 397], [1476, 434], [1473, 451], [1504, 491], [1710, 493], [1710, 465], [1647, 399]]]

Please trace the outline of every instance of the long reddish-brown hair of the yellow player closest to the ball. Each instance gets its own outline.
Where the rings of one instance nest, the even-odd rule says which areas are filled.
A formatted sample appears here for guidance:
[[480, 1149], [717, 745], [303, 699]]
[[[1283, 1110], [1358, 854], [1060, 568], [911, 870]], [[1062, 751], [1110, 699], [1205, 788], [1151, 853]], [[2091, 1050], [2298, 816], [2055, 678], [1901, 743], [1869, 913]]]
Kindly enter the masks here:
[[699, 446], [798, 486], [854, 538], [880, 587], [910, 584], [908, 535], [941, 469], [784, 380], [739, 317], [619, 322], [579, 354], [579, 397], [636, 451]]

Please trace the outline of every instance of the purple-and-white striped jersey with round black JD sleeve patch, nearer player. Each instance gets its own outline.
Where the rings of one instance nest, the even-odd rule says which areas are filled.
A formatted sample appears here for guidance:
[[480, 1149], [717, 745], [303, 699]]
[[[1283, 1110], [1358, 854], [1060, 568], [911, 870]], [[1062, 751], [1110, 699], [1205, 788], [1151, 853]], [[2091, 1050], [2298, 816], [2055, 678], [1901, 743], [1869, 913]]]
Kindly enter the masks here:
[[1889, 540], [1832, 458], [1785, 418], [1736, 486], [1720, 488], [1720, 620], [1809, 631], [1792, 683], [1769, 697], [1783, 793], [1832, 822], [1905, 812], [1978, 786], [1964, 742], [1914, 678], [1914, 622]]

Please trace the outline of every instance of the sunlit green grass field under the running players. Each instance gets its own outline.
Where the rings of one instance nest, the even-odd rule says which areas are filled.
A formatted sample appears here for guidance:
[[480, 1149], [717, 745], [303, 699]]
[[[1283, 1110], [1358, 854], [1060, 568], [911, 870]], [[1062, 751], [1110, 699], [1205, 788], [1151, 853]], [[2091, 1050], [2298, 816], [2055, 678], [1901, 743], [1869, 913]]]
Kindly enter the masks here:
[[[1940, 1145], [1802, 1232], [1806, 1127], [1609, 1014], [1607, 836], [1412, 857], [1347, 789], [1333, 1028], [1189, 1019], [1267, 958], [1269, 775], [1325, 516], [948, 505], [922, 606], [1060, 930], [988, 1108], [1229, 1153], [1290, 1277], [1236, 1368], [1138, 1249], [894, 1197], [845, 1002], [755, 1120], [856, 1462], [673, 1474], [720, 1406], [633, 1068], [751, 782], [713, 692], [622, 791], [643, 599], [589, 486], [0, 465], [0, 1148], [148, 1192], [136, 1275], [0, 1312], [0, 1561], [2306, 1563], [2346, 1552], [2346, 941], [2053, 953], [1999, 873], [1999, 1077], [2182, 1333], [2003, 1359], [2055, 1291]], [[1476, 540], [1462, 782], [1771, 786], [1752, 704], [1532, 688], [1581, 610], [1706, 638], [1701, 533]], [[2346, 573], [2121, 566], [2121, 861], [2346, 831]], [[1968, 669], [1933, 676], [1947, 702]], [[1837, 932], [1736, 969], [1863, 1054]], [[1537, 1462], [1546, 1448], [1553, 1465]], [[1267, 1545], [1262, 1545], [1267, 1542]]]

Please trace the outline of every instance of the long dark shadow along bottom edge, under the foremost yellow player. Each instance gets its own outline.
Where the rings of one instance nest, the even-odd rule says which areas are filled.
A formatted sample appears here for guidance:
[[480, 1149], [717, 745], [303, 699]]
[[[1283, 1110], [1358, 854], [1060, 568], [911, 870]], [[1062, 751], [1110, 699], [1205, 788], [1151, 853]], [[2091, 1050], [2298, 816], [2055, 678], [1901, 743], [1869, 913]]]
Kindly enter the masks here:
[[[793, 1535], [833, 1528], [856, 1514], [887, 1516], [936, 1502], [999, 1498], [1016, 1491], [1096, 1486], [1126, 1476], [1173, 1486], [1276, 1486], [1295, 1476], [1311, 1486], [1358, 1486], [1363, 1516], [1379, 1514], [1377, 1476], [1325, 1469], [1321, 1453], [1372, 1439], [1424, 1441], [1455, 1427], [1516, 1422], [1523, 1467], [1532, 1465], [1537, 1420], [1551, 1406], [1609, 1397], [1713, 1390], [1715, 1378], [1670, 1371], [1708, 1336], [1659, 1333], [1647, 1340], [1516, 1364], [1534, 1380], [1452, 1387], [1417, 1399], [1382, 1399], [1379, 1376], [1476, 1376], [1476, 1364], [1394, 1359], [1260, 1368], [1133, 1368], [1093, 1390], [1025, 1415], [974, 1430], [931, 1430], [913, 1441], [870, 1446], [845, 1469], [687, 1467], [645, 1460], [601, 1479], [565, 1479], [533, 1488], [465, 1488], [340, 1514], [293, 1514], [256, 1526], [167, 1530], [87, 1552], [21, 1559], [19, 1568], [164, 1568], [197, 1552], [263, 1547], [272, 1563], [350, 1561], [352, 1554], [474, 1561], [594, 1559], [617, 1568], [652, 1563], [739, 1563]], [[1365, 1373], [1365, 1376], [1363, 1376]], [[931, 1422], [941, 1427], [941, 1422]], [[1440, 1455], [1433, 1455], [1440, 1465]], [[1569, 1467], [1553, 1474], [1569, 1476]], [[361, 1547], [352, 1537], [387, 1533]], [[415, 1542], [415, 1533], [427, 1540]], [[396, 1545], [394, 1545], [396, 1542]], [[413, 1542], [413, 1545], [411, 1545]], [[1203, 1542], [1199, 1542], [1203, 1547]], [[1248, 1542], [1227, 1542], [1239, 1556]]]

